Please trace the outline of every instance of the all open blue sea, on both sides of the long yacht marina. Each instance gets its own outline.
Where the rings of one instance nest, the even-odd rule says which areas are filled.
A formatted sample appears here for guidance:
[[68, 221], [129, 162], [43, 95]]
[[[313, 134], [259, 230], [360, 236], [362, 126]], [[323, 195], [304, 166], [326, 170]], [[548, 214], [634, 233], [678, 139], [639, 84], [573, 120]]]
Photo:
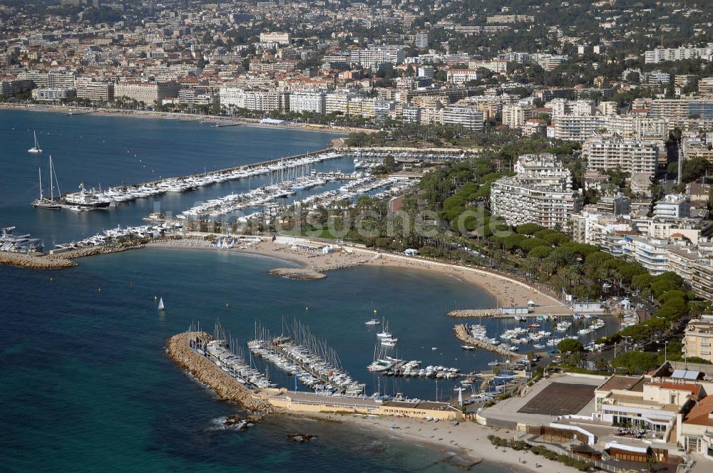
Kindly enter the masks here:
[[[33, 130], [45, 150], [39, 157], [26, 153]], [[48, 212], [29, 201], [36, 195], [37, 166], [49, 154], [60, 184], [72, 189], [81, 182], [142, 182], [294, 155], [326, 147], [332, 137], [0, 110], [0, 226], [16, 225], [49, 245], [138, 224], [157, 204], [183, 209], [254, 185], [225, 183], [201, 189], [205, 196], [144, 199], [108, 212]], [[348, 160], [325, 165], [350, 170]], [[144, 249], [82, 259], [62, 271], [0, 266], [3, 471], [455, 472], [439, 452], [350, 425], [268, 417], [244, 432], [220, 429], [217, 419], [239, 412], [237, 405], [217, 400], [165, 356], [166, 339], [192, 322], [212, 331], [220, 320], [245, 343], [256, 321], [279, 332], [283, 321], [297, 319], [336, 348], [344, 368], [370, 392], [431, 399], [454, 394], [452, 382], [379, 379], [366, 371], [375, 333], [364, 321], [374, 310], [399, 337], [401, 358], [466, 371], [493, 360], [462, 350], [453, 337], [453, 320], [445, 317], [451, 308], [494, 305], [458, 279], [364, 267], [333, 271], [321, 281], [292, 281], [267, 273], [277, 264], [287, 263], [232, 252]], [[163, 313], [155, 309], [157, 297], [165, 301]], [[487, 323], [504, 328], [511, 322]], [[317, 440], [293, 444], [285, 440], [290, 432]], [[474, 471], [509, 469], [481, 464]]]

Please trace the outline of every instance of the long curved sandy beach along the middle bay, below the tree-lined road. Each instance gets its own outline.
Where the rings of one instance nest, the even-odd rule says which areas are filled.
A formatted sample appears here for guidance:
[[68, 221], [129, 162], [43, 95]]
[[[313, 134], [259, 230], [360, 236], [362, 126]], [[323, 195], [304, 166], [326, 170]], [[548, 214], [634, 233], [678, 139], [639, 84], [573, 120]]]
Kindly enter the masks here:
[[[180, 246], [185, 248], [210, 249], [212, 246], [199, 240], [175, 240], [152, 243], [149, 246]], [[498, 306], [525, 306], [529, 301], [535, 303], [535, 313], [561, 311], [564, 306], [553, 296], [543, 293], [540, 289], [511, 279], [500, 274], [490, 273], [482, 269], [466, 266], [429, 261], [413, 256], [381, 253], [359, 246], [344, 246], [344, 251], [330, 254], [320, 254], [307, 249], [292, 249], [288, 245], [272, 241], [246, 245], [245, 248], [221, 249], [220, 251], [238, 251], [249, 254], [260, 254], [277, 259], [292, 261], [296, 264], [318, 272], [334, 271], [352, 266], [388, 266], [405, 269], [419, 269], [455, 277], [456, 279], [478, 286], [498, 300]], [[466, 307], [464, 307], [466, 308]], [[471, 308], [471, 307], [467, 307]]]

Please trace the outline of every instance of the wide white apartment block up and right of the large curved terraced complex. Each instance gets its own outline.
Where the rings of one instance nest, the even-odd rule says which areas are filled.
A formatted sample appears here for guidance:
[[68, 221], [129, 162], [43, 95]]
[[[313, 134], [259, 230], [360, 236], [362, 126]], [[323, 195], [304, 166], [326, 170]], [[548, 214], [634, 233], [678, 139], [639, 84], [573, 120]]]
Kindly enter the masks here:
[[626, 172], [645, 172], [648, 175], [655, 174], [661, 152], [660, 142], [617, 136], [590, 137], [582, 146], [582, 157], [587, 160], [588, 169], [620, 167]]

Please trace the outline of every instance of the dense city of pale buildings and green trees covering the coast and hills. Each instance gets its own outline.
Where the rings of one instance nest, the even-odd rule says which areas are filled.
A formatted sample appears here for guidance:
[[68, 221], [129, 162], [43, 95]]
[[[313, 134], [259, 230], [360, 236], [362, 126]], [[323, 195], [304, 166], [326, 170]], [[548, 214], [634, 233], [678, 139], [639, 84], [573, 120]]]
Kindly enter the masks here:
[[[707, 471], [712, 24], [704, 0], [0, 0], [0, 107], [342, 132], [332, 150], [388, 192], [260, 212], [254, 233], [491, 271], [559, 298], [580, 335], [600, 327], [578, 313], [617, 321], [545, 348], [546, 311], [498, 307], [543, 349], [510, 346], [508, 388], [429, 419], [583, 470]], [[180, 226], [245, 223], [208, 212]]]

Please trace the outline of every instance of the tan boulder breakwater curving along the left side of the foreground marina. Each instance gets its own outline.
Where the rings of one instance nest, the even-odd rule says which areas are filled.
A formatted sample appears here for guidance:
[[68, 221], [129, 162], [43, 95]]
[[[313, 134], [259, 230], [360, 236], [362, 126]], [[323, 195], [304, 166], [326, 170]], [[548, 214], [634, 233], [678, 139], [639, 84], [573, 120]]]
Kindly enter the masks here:
[[205, 332], [179, 333], [166, 341], [166, 354], [173, 363], [188, 370], [201, 383], [209, 386], [218, 397], [224, 400], [238, 402], [246, 409], [270, 413], [274, 411], [272, 405], [265, 400], [255, 397], [254, 393], [227, 375], [215, 364], [200, 355], [190, 347], [190, 341], [200, 336], [205, 340], [212, 340], [212, 336]]

